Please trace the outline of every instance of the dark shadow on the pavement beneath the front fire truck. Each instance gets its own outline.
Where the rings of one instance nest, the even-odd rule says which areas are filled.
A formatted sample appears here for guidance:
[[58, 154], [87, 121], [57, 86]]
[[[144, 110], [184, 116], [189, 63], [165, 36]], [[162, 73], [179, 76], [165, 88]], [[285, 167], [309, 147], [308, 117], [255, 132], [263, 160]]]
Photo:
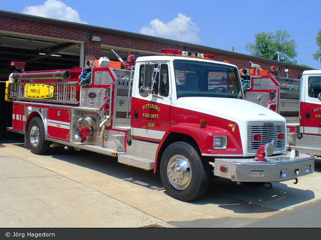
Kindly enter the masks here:
[[[16, 145], [24, 147], [23, 143]], [[67, 150], [53, 148], [52, 152], [47, 156], [108, 174], [150, 190], [164, 191], [159, 174], [154, 174], [153, 170], [146, 171], [120, 164], [117, 158], [85, 150], [76, 151], [73, 147]], [[320, 161], [316, 161], [316, 172], [320, 171]], [[273, 188], [268, 190], [264, 186], [250, 184], [239, 186], [230, 179], [216, 177], [210, 182], [209, 189], [203, 197], [188, 204], [216, 204], [234, 213], [269, 213], [309, 201], [315, 197], [313, 191], [297, 189], [292, 182], [273, 183]], [[166, 191], [164, 194], [167, 195]]]

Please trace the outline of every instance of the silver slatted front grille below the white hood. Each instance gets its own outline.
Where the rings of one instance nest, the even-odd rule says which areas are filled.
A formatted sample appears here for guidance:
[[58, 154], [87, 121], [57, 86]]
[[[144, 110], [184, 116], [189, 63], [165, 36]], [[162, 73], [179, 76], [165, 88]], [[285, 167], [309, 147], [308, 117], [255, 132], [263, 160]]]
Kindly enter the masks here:
[[[254, 141], [254, 135], [260, 134], [261, 140]], [[284, 139], [278, 139], [279, 134], [284, 134]], [[285, 125], [282, 122], [253, 122], [248, 123], [248, 152], [256, 153], [257, 149], [266, 143], [274, 140], [274, 152], [282, 151], [285, 148], [286, 133]]]

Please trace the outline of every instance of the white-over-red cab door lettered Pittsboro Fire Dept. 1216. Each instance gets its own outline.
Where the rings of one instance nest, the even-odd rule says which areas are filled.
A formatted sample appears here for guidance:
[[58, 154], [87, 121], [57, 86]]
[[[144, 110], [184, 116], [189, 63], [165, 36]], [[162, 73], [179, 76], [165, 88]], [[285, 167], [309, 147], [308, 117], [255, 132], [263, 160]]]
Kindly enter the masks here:
[[131, 98], [131, 137], [160, 142], [170, 127], [169, 63], [136, 63]]

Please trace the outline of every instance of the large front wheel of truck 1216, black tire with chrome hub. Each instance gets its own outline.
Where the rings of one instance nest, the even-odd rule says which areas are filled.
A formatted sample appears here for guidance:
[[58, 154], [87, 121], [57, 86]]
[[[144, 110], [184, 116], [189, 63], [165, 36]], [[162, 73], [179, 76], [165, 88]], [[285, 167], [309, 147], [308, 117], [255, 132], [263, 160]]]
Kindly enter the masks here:
[[159, 167], [166, 191], [178, 200], [195, 200], [208, 189], [209, 163], [202, 161], [200, 154], [190, 143], [174, 142], [169, 145]]

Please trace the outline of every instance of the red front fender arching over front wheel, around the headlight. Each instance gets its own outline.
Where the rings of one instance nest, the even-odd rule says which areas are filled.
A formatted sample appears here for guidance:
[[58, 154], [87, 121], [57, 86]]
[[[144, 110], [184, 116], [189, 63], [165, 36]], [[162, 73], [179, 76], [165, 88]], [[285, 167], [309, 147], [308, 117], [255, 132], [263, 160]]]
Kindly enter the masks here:
[[[208, 156], [208, 157], [234, 156], [235, 157], [235, 155], [239, 155], [239, 156], [243, 155], [242, 143], [238, 142], [229, 131], [218, 127], [207, 126], [205, 128], [200, 128], [199, 124], [181, 123], [181, 124], [172, 126], [164, 134], [156, 151], [155, 166], [157, 166], [156, 164], [157, 164], [158, 153], [170, 133], [179, 133], [179, 134], [191, 136], [196, 141], [202, 156]], [[239, 132], [237, 134], [239, 135]], [[227, 136], [227, 148], [214, 149], [213, 148], [214, 136]]]

